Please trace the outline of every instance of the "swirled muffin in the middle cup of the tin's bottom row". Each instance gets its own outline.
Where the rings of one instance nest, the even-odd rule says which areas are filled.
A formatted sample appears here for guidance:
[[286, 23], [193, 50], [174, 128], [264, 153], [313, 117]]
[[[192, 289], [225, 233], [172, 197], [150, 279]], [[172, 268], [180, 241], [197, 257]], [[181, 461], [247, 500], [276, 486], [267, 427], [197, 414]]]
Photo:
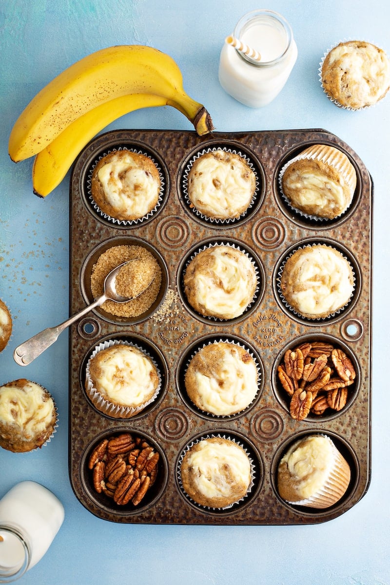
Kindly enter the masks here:
[[244, 449], [230, 439], [202, 439], [185, 452], [181, 480], [185, 493], [197, 504], [225, 508], [247, 494], [250, 460]]

